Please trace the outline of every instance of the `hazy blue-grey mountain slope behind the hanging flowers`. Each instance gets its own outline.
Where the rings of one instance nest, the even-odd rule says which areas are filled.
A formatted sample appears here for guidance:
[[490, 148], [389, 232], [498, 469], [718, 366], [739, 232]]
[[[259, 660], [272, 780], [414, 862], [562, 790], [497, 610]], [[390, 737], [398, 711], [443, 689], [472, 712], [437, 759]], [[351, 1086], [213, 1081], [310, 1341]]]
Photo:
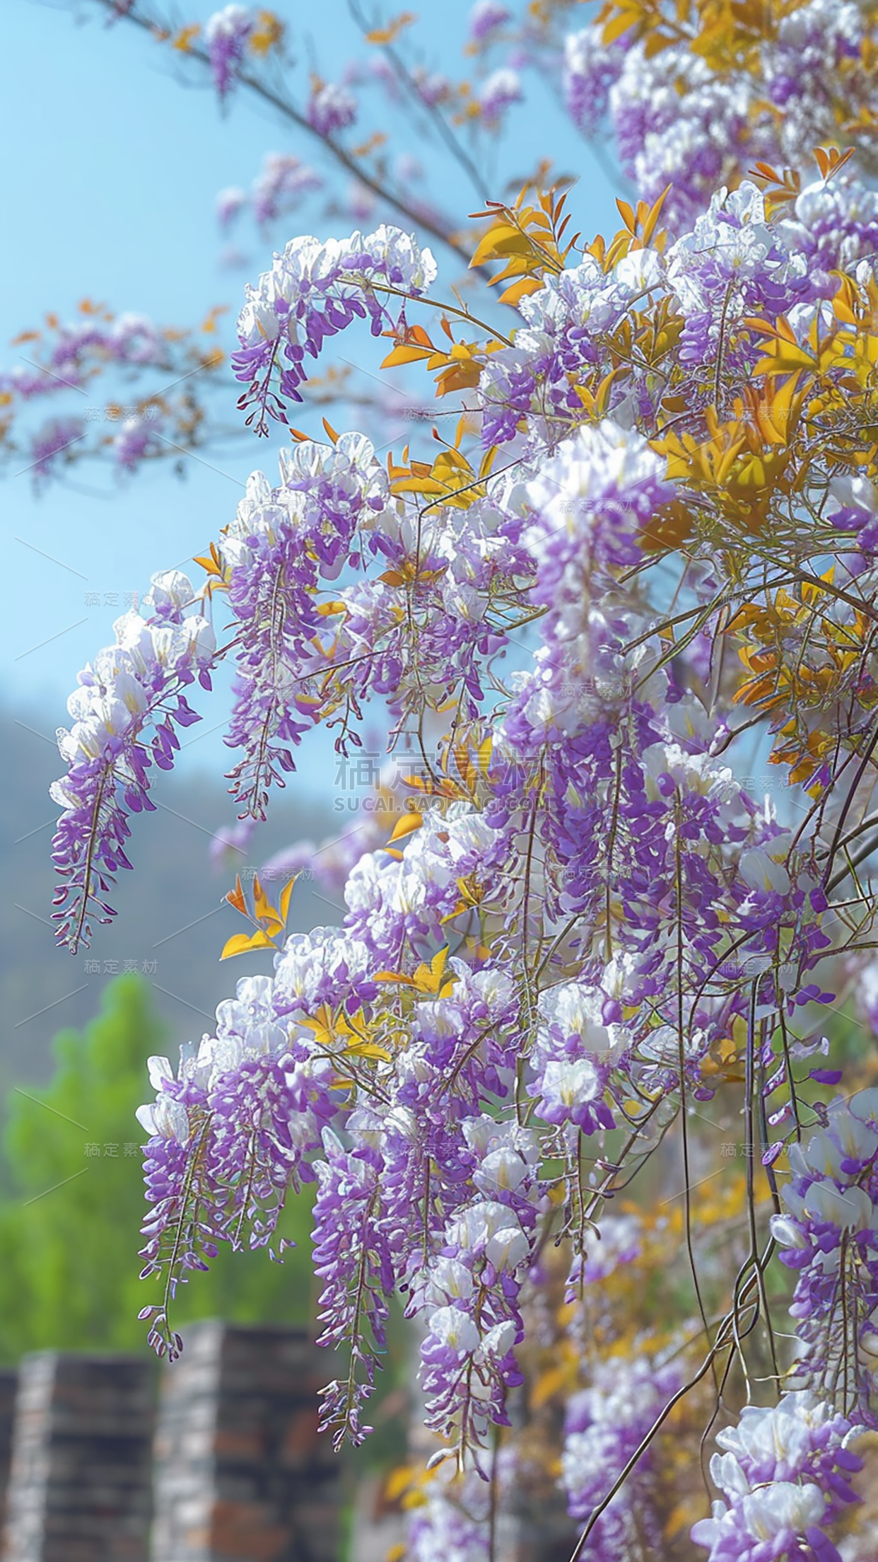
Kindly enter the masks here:
[[[136, 970], [152, 987], [166, 1022], [170, 1056], [184, 1040], [212, 1029], [220, 998], [241, 976], [269, 972], [270, 956], [244, 954], [225, 965], [220, 950], [241, 917], [223, 903], [236, 868], [259, 867], [281, 847], [320, 840], [339, 825], [337, 812], [311, 798], [297, 801], [297, 778], [272, 800], [248, 854], [231, 853], [217, 867], [209, 848], [216, 831], [234, 825], [234, 804], [222, 779], [161, 775], [155, 814], [133, 822], [128, 851], [134, 872], [119, 876], [111, 897], [119, 915], [98, 926], [91, 950], [70, 958], [56, 948], [52, 925], [52, 834], [58, 809], [48, 797], [61, 773], [52, 726], [39, 711], [0, 711], [3, 744], [0, 790], [0, 1095], [12, 1084], [44, 1082], [52, 1068], [52, 1037], [81, 1028], [100, 1009], [112, 976]], [[344, 828], [344, 826], [342, 826]], [[287, 928], [306, 931], [342, 920], [344, 906], [302, 879], [292, 893]], [[97, 964], [97, 970], [95, 970]]]

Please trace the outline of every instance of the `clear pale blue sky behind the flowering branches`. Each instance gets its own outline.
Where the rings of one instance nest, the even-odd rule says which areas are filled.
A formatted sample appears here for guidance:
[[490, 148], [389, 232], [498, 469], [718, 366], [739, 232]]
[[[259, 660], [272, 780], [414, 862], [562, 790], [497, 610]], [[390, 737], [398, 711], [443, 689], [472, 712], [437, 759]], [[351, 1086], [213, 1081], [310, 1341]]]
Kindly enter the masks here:
[[[192, 0], [183, 14], [203, 20], [211, 9]], [[291, 25], [306, 14], [309, 31], [294, 42], [303, 58], [317, 61], [323, 77], [337, 77], [362, 53], [345, 0], [320, 8], [283, 0], [275, 9]], [[461, 0], [430, 0], [417, 28], [427, 62], [461, 73], [456, 47], [467, 12]], [[83, 297], [150, 314], [162, 325], [195, 323], [217, 303], [228, 303], [233, 319], [244, 281], [269, 264], [272, 245], [292, 236], [295, 219], [291, 231], [284, 228], [270, 241], [242, 234], [250, 264], [230, 270], [220, 264], [216, 192], [250, 184], [269, 150], [311, 158], [312, 147], [295, 144], [287, 128], [244, 97], [222, 116], [212, 92], [175, 78], [169, 50], [128, 25], [106, 28], [87, 5], [77, 19], [64, 5], [5, 0], [3, 42], [3, 364], [11, 366], [22, 351], [6, 347], [12, 336], [37, 325], [47, 309], [70, 317]], [[369, 112], [377, 109], [378, 97], [372, 95]], [[372, 128], [367, 116], [364, 125]], [[423, 156], [420, 147], [417, 152]], [[500, 175], [530, 170], [542, 153], [580, 175], [572, 197], [576, 226], [586, 233], [616, 226], [616, 191], [545, 87], [531, 80], [528, 103], [512, 116], [492, 170], [498, 187]], [[434, 195], [458, 209], [475, 208], [475, 197], [469, 191], [461, 195], [459, 177], [444, 158], [428, 152], [425, 161], [437, 170]], [[305, 226], [314, 222], [308, 219]], [[327, 236], [352, 226], [344, 217], [322, 223]], [[441, 278], [453, 280], [453, 264], [437, 258]], [[377, 367], [377, 361], [375, 353], [375, 362], [364, 364]], [[234, 394], [230, 381], [230, 420], [236, 417]], [[267, 440], [242, 440], [216, 465], [187, 461], [184, 483], [150, 470], [109, 497], [98, 497], [106, 481], [98, 483], [86, 469], [39, 498], [27, 475], [8, 472], [0, 481], [14, 583], [5, 594], [0, 625], [6, 697], [37, 708], [52, 733], [66, 717], [78, 667], [112, 637], [123, 594], [142, 594], [153, 570], [203, 550], [230, 519], [241, 484], [256, 465], [272, 472], [275, 451]], [[86, 592], [98, 592], [102, 608], [86, 606]], [[103, 606], [112, 592], [116, 609]], [[214, 711], [206, 712], [205, 737], [198, 734], [187, 764], [222, 765], [227, 751], [220, 733], [206, 729], [222, 723], [225, 701], [219, 694]]]

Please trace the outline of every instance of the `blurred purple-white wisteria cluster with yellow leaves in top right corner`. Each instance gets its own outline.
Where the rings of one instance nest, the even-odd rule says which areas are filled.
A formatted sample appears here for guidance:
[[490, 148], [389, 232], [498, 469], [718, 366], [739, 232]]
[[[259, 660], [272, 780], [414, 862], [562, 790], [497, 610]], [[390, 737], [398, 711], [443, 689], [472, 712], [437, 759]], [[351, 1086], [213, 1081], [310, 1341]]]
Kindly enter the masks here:
[[800, 167], [819, 142], [855, 139], [875, 162], [870, 109], [878, 17], [869, 3], [806, 0], [736, 11], [705, 0], [608, 0], [564, 42], [567, 109], [597, 136], [609, 117], [623, 170], [678, 231], [753, 162]]

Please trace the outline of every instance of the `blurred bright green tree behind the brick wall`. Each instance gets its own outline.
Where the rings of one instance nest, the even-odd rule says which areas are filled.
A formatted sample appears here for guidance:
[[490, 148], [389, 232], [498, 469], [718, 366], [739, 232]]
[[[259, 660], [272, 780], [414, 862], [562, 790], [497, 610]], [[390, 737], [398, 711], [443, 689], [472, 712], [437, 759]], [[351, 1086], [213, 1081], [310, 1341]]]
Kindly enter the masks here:
[[[145, 1350], [134, 1243], [144, 1217], [144, 1062], [167, 1045], [148, 987], [120, 976], [102, 1014], [55, 1039], [56, 1067], [44, 1090], [14, 1090], [3, 1136], [0, 1198], [0, 1357], [59, 1346]], [[255, 1253], [180, 1292], [180, 1317], [303, 1323], [309, 1312], [309, 1200], [289, 1201], [284, 1236], [298, 1248], [284, 1264]]]

